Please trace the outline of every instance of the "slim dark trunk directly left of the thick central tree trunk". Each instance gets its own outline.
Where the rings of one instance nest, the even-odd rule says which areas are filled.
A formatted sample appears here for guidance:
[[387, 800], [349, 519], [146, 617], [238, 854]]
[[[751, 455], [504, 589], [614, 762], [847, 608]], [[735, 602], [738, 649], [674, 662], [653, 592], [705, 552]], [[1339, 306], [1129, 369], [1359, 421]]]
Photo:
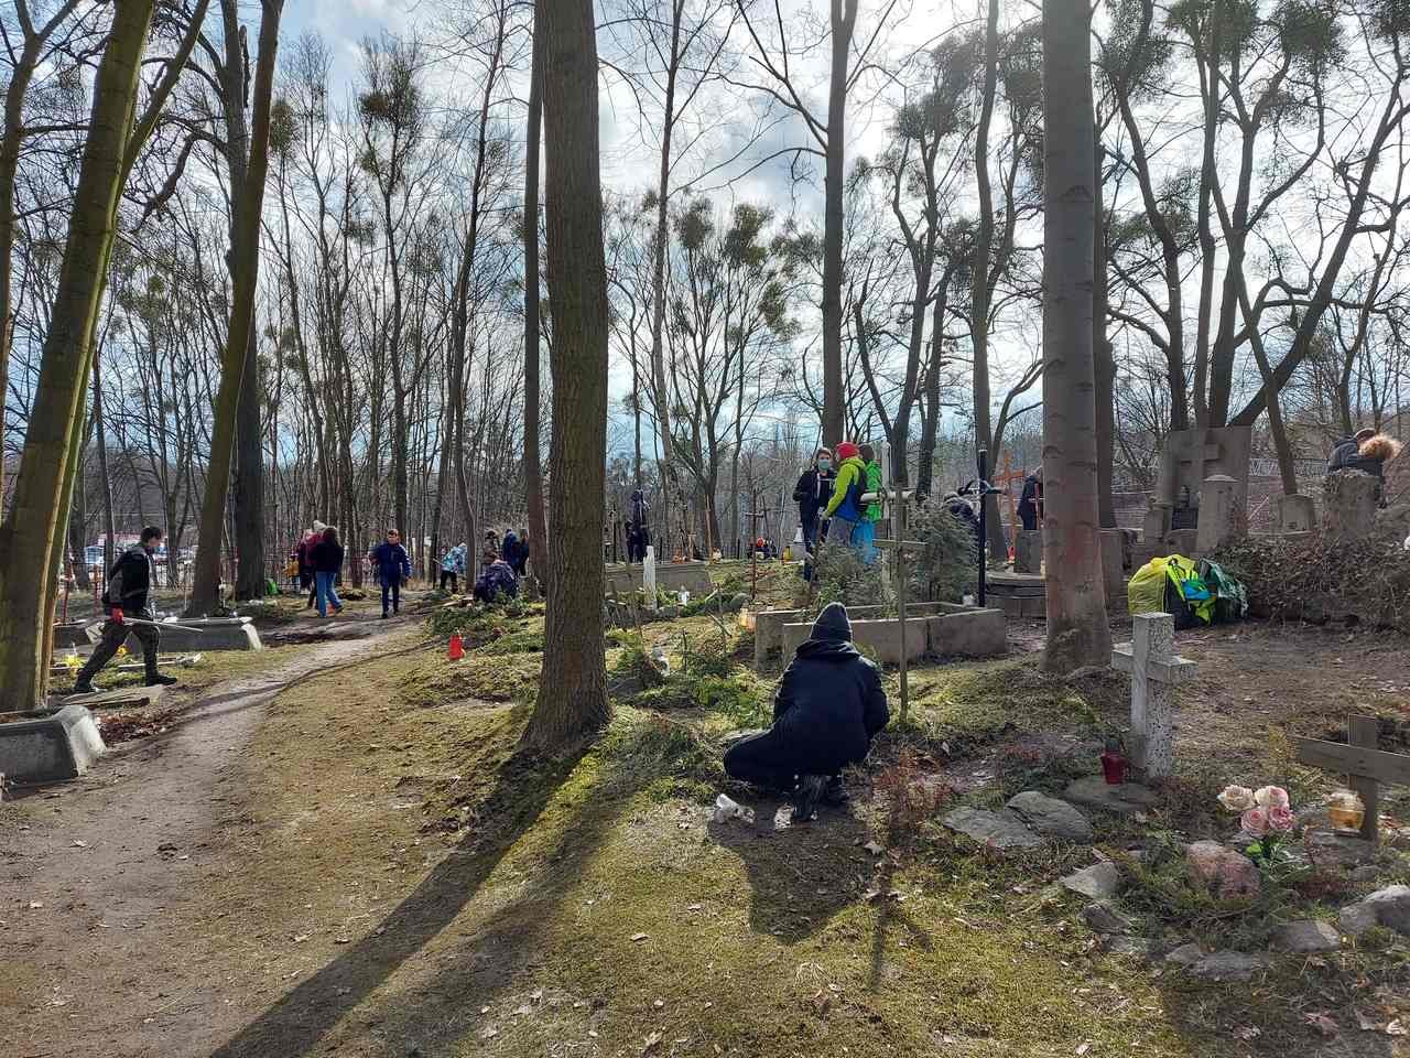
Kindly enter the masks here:
[[[529, 504], [529, 563], [541, 581], [548, 574], [548, 519], [543, 508], [541, 391], [539, 350], [539, 142], [543, 134], [543, 32], [534, 25], [525, 137], [525, 491]], [[636, 368], [632, 370], [636, 392]], [[637, 412], [637, 460], [642, 453]]]

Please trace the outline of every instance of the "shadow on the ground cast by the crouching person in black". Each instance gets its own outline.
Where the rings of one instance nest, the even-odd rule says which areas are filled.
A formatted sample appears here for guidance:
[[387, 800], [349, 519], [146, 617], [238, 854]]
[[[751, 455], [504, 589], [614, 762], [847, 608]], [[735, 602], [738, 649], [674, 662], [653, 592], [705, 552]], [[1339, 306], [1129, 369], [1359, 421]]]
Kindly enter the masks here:
[[843, 866], [836, 846], [860, 845], [867, 828], [847, 810], [822, 808], [818, 818], [798, 824], [790, 813], [787, 800], [763, 797], [753, 824], [712, 821], [709, 834], [744, 865], [750, 927], [797, 944], [860, 897], [857, 872]]

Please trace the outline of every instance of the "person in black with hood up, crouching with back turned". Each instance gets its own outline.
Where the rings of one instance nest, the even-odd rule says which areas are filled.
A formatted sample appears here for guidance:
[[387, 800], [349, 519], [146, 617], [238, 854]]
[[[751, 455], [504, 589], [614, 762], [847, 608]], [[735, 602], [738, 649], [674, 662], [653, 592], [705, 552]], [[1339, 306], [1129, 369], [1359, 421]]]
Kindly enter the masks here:
[[819, 800], [842, 803], [842, 769], [866, 759], [890, 715], [877, 667], [852, 645], [847, 608], [829, 602], [778, 683], [774, 725], [730, 746], [725, 772], [791, 791], [807, 820]]

